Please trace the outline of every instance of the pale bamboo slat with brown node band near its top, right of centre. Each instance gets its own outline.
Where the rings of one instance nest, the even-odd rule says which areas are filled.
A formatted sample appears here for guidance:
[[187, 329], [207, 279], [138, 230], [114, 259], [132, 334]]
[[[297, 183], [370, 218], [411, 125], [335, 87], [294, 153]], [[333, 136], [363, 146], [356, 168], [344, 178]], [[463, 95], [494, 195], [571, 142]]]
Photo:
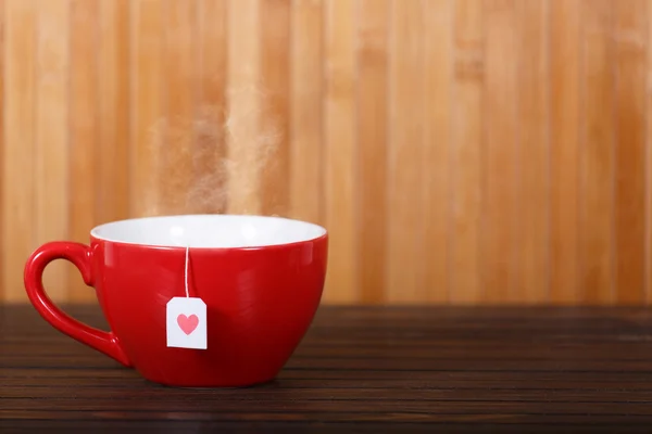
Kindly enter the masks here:
[[455, 1], [452, 84], [451, 289], [452, 303], [475, 304], [480, 279], [482, 87], [485, 80], [482, 0]]

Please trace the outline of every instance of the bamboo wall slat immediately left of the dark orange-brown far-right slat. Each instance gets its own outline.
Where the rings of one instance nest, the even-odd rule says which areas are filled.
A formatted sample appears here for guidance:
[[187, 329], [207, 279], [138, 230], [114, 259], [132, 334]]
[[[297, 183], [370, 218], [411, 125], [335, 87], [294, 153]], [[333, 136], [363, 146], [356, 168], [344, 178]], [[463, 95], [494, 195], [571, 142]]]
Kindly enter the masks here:
[[613, 3], [581, 2], [580, 291], [593, 303], [614, 301], [614, 58]]

